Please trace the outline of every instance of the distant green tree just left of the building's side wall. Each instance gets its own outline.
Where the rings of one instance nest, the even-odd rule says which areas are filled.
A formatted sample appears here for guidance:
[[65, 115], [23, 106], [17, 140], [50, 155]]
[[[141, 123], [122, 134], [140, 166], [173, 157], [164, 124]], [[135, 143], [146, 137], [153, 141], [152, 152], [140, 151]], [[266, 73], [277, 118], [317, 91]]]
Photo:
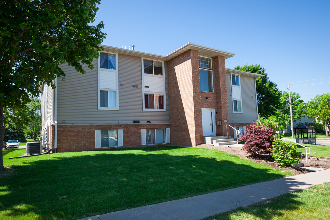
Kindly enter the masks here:
[[27, 104], [29, 123], [24, 127], [24, 133], [31, 136], [33, 141], [36, 140], [41, 127], [41, 100], [33, 97]]

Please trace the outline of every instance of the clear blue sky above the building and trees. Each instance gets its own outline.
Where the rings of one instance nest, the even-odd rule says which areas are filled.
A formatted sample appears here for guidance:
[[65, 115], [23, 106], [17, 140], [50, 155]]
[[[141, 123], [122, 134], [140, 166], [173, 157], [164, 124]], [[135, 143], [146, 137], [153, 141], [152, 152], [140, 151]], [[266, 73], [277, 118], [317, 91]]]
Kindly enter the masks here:
[[[289, 82], [307, 102], [330, 92], [329, 8], [328, 0], [101, 0], [95, 23], [104, 22], [109, 46], [167, 55], [191, 42], [236, 53], [227, 68], [261, 64], [280, 90]], [[323, 84], [301, 86], [313, 83]]]

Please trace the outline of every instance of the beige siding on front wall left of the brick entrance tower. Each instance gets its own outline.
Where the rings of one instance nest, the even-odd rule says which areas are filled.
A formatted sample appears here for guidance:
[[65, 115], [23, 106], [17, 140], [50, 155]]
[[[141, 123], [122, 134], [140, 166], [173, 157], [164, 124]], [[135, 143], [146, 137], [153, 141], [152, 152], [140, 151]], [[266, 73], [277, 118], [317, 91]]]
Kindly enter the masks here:
[[[94, 69], [84, 65], [86, 73], [81, 75], [73, 67], [62, 65], [65, 81], [57, 83], [57, 122], [62, 124], [133, 124], [169, 123], [168, 87], [166, 85], [166, 111], [143, 111], [141, 58], [118, 54], [119, 110], [98, 110], [97, 104], [97, 60]], [[165, 83], [167, 67], [165, 63]], [[120, 86], [120, 84], [123, 84]], [[138, 85], [138, 87], [133, 87]]]

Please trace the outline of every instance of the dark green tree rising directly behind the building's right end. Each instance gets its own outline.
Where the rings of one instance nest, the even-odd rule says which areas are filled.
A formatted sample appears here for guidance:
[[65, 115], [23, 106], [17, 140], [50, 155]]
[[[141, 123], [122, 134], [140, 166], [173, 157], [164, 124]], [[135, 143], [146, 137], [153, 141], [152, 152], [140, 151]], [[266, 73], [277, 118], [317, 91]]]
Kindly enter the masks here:
[[244, 66], [236, 66], [235, 70], [264, 75], [264, 77], [257, 79], [255, 82], [258, 99], [258, 113], [264, 118], [274, 115], [280, 106], [281, 93], [277, 88], [277, 84], [269, 80], [265, 68], [260, 66], [260, 64], [245, 64]]

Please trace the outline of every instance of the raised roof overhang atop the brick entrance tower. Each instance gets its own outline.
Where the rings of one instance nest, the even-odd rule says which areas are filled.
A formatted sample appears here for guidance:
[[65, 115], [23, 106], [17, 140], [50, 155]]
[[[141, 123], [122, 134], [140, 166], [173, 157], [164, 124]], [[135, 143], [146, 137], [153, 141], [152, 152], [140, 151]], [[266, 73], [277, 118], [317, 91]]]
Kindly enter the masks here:
[[223, 56], [225, 59], [233, 57], [236, 55], [236, 53], [226, 52], [223, 50], [218, 50], [211, 47], [205, 47], [198, 44], [193, 43], [187, 43], [183, 45], [182, 47], [174, 50], [172, 53], [169, 53], [166, 55], [166, 59], [170, 60], [173, 59], [176, 56], [179, 56], [180, 54], [188, 51], [188, 50], [197, 50], [198, 55], [200, 56], [206, 56], [206, 57], [214, 57], [214, 56]]

